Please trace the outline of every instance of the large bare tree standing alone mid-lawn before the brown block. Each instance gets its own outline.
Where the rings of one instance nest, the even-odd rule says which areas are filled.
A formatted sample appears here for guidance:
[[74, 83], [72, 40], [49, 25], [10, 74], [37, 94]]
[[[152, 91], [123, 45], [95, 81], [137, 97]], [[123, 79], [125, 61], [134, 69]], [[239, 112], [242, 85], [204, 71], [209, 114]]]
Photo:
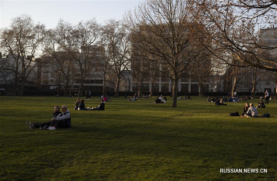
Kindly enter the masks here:
[[[172, 107], [177, 107], [177, 85], [181, 77], [189, 77], [197, 64], [195, 57], [201, 52], [192, 39], [193, 21], [189, 2], [184, 0], [154, 0], [142, 2], [126, 22], [137, 35], [136, 48], [142, 54], [151, 54], [154, 66], [163, 65], [160, 73], [173, 80]], [[194, 63], [194, 64], [192, 64]]]

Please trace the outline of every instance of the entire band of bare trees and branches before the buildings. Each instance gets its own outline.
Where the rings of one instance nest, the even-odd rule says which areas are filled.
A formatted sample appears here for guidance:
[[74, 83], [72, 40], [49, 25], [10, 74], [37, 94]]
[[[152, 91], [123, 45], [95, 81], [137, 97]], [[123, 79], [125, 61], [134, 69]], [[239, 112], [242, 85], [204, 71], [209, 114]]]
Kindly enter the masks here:
[[[177, 107], [177, 85], [184, 77], [197, 79], [201, 88], [207, 77], [230, 70], [234, 84], [248, 71], [256, 75], [253, 86], [260, 70], [276, 76], [276, 55], [268, 52], [277, 47], [260, 41], [261, 30], [276, 25], [276, 6], [274, 0], [153, 0], [125, 12], [120, 21], [72, 25], [61, 19], [53, 29], [21, 15], [1, 29], [1, 51], [14, 61], [2, 60], [1, 71], [14, 74], [19, 95], [37, 66], [46, 67], [41, 70], [52, 74], [59, 88], [65, 85], [65, 91], [78, 79], [80, 96], [92, 71], [103, 77], [103, 92], [106, 81], [115, 77], [115, 97], [126, 70], [139, 83], [139, 96], [143, 81], [154, 85], [164, 76], [173, 83], [172, 107]], [[33, 61], [35, 56], [40, 61]]]

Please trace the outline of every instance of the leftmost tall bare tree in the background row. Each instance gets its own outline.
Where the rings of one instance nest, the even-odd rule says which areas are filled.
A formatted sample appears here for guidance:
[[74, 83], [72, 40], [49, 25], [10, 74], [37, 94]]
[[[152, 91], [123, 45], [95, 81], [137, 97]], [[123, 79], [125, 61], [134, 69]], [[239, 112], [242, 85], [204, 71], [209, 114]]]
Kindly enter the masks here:
[[[13, 66], [8, 67], [8, 71], [15, 74], [14, 92], [18, 88], [18, 83], [21, 85], [20, 96], [24, 94], [25, 82], [36, 67], [34, 57], [39, 44], [45, 38], [44, 31], [44, 25], [35, 25], [28, 15], [13, 18], [10, 27], [1, 29], [0, 46], [4, 53], [14, 60]], [[30, 58], [27, 59], [27, 56]]]

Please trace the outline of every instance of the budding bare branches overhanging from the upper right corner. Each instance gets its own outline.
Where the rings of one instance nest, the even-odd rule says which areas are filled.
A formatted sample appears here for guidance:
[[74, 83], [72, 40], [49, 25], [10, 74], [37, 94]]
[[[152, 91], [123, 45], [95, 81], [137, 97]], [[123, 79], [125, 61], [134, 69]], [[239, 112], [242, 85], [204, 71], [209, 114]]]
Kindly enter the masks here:
[[[277, 71], [275, 60], [267, 59], [262, 52], [277, 48], [261, 41], [267, 30], [265, 24], [276, 24], [275, 0], [233, 0], [193, 2], [197, 24], [205, 27], [199, 31], [210, 37], [209, 44], [203, 45], [222, 62], [238, 67], [257, 67]], [[276, 38], [277, 31], [272, 35]], [[232, 58], [222, 56], [222, 52]]]

